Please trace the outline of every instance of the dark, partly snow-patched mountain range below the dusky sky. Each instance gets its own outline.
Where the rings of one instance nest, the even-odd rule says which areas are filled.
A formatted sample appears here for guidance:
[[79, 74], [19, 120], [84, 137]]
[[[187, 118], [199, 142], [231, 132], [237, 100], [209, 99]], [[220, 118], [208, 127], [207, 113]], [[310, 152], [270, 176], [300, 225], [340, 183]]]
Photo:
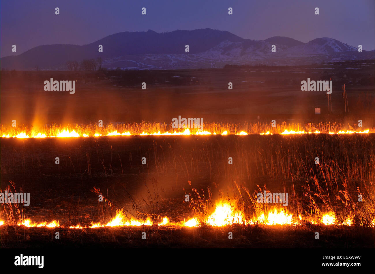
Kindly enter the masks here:
[[[103, 46], [103, 52], [98, 46]], [[189, 52], [185, 52], [189, 45]], [[272, 45], [276, 52], [272, 52]], [[67, 61], [101, 57], [108, 69], [187, 69], [223, 67], [226, 64], [309, 65], [329, 61], [374, 59], [375, 51], [323, 37], [307, 43], [274, 36], [243, 39], [210, 28], [156, 33], [121, 32], [87, 45], [42, 45], [20, 55], [2, 57], [1, 69], [66, 70]]]

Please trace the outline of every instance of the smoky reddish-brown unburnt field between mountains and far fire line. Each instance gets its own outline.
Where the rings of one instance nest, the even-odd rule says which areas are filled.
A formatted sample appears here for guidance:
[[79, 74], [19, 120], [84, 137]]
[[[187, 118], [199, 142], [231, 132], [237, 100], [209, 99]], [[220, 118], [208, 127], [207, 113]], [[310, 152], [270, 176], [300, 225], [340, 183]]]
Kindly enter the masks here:
[[[43, 82], [77, 80], [75, 94], [46, 92]], [[332, 111], [325, 92], [302, 92], [301, 81], [332, 78]], [[142, 82], [146, 89], [142, 89]], [[228, 89], [228, 83], [233, 89]], [[346, 84], [350, 112], [345, 113]], [[255, 66], [171, 71], [2, 71], [1, 125], [204, 122], [340, 122], [374, 127], [374, 60], [315, 66]], [[315, 115], [315, 107], [321, 115]], [[258, 119], [259, 116], [259, 119]], [[349, 128], [347, 128], [349, 129]]]

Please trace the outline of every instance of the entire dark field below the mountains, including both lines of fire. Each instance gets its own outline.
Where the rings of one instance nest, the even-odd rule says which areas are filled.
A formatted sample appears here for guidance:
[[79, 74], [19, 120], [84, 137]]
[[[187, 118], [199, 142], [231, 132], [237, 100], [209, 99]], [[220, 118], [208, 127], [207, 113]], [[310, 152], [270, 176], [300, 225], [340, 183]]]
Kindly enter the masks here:
[[[1, 192], [29, 192], [30, 206], [0, 205], [1, 247], [374, 247], [373, 73], [373, 61], [2, 72]], [[314, 75], [333, 79], [330, 112], [325, 92], [300, 89]], [[44, 91], [51, 77], [76, 93]], [[179, 115], [211, 134], [150, 135]], [[63, 130], [89, 137], [54, 138]]]

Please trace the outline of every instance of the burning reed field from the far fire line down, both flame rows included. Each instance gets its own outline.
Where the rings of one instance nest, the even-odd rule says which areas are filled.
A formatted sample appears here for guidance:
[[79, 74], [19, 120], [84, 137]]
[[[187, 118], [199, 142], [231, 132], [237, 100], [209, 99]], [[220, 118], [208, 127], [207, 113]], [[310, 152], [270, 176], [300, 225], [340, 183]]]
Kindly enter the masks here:
[[1, 204], [3, 247], [374, 245], [371, 128], [134, 123], [0, 134], [1, 192], [25, 194], [24, 204]]

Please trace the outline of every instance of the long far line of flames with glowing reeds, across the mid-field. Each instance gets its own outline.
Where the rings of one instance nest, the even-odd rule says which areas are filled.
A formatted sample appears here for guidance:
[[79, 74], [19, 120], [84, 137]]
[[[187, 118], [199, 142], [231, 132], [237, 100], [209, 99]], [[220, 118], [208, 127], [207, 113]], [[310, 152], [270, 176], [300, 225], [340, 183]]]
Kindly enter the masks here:
[[[333, 125], [337, 128], [336, 125]], [[308, 131], [309, 128], [320, 127], [323, 128], [323, 133], [328, 134], [366, 134], [369, 133], [370, 130], [363, 130], [363, 131], [354, 131], [354, 130], [336, 130], [335, 132], [331, 132], [328, 128], [331, 128], [331, 125], [311, 125], [306, 124], [305, 130], [299, 130], [299, 128], [304, 128], [303, 125], [287, 125], [282, 124], [280, 127], [271, 130], [269, 125], [262, 125], [262, 124], [255, 124], [245, 125], [247, 130], [237, 130], [237, 125], [232, 124], [205, 124], [205, 128], [202, 128], [202, 131], [197, 128], [185, 128], [185, 129], [176, 129], [174, 132], [168, 131], [167, 124], [160, 124], [160, 123], [133, 123], [127, 125], [118, 125], [116, 129], [113, 129], [113, 126], [107, 128], [107, 132], [105, 129], [100, 129], [96, 127], [96, 125], [75, 125], [73, 128], [63, 128], [62, 126], [52, 125], [50, 127], [43, 127], [43, 128], [32, 128], [31, 130], [25, 129], [17, 131], [13, 127], [3, 127], [1, 126], [1, 137], [2, 138], [49, 138], [49, 137], [100, 137], [100, 136], [177, 136], [177, 135], [217, 135], [222, 132], [221, 135], [249, 135], [249, 134], [260, 134], [260, 135], [273, 135], [273, 134], [280, 134], [280, 135], [290, 135], [290, 134], [320, 134], [321, 131], [315, 130], [314, 132]], [[169, 126], [169, 128], [171, 128]], [[265, 128], [269, 128], [269, 130], [264, 130]], [[262, 131], [264, 132], [262, 133]], [[279, 131], [279, 132], [277, 132]], [[239, 133], [238, 133], [239, 132]], [[374, 132], [374, 129], [371, 130]]]

